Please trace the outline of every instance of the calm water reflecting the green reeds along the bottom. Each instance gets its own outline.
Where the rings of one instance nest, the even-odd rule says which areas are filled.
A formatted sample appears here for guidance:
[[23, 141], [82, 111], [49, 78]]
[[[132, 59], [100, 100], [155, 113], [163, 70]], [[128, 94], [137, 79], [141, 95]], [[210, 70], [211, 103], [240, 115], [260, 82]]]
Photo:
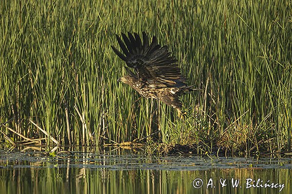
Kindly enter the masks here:
[[121, 149], [50, 156], [1, 149], [0, 194], [290, 193], [291, 169], [289, 158], [155, 157]]

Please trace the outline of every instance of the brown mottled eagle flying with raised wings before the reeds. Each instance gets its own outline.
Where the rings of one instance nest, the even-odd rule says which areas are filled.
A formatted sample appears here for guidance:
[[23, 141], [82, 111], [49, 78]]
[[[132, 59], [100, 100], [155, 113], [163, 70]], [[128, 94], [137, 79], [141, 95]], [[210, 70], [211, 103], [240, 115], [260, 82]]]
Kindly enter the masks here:
[[119, 78], [118, 82], [130, 85], [142, 97], [158, 99], [172, 106], [183, 118], [186, 112], [180, 97], [196, 89], [185, 83], [177, 59], [171, 56], [167, 46], [160, 46], [155, 36], [149, 42], [146, 32], [142, 32], [142, 38], [130, 32], [128, 37], [122, 33], [121, 37], [116, 35], [116, 38], [124, 54], [114, 46], [111, 48], [128, 67], [134, 68], [131, 71], [125, 66], [128, 75]]

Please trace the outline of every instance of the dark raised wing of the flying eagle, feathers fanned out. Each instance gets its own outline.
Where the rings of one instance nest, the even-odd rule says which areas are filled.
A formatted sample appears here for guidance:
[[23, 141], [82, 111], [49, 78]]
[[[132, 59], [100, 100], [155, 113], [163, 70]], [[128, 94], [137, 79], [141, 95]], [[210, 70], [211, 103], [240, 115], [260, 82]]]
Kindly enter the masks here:
[[111, 46], [113, 51], [124, 60], [129, 67], [135, 68], [142, 81], [154, 82], [164, 87], [184, 86], [185, 78], [177, 65], [175, 57], [170, 56], [167, 46], [161, 47], [153, 36], [149, 44], [145, 32], [142, 39], [137, 33], [128, 32], [128, 37], [122, 33], [122, 39], [116, 35], [118, 43], [124, 54]]

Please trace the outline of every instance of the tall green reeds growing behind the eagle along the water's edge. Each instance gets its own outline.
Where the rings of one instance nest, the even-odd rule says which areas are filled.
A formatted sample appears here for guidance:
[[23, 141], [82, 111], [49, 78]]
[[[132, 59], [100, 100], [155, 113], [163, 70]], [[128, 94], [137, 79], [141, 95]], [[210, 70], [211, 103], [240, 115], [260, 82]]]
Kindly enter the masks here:
[[[152, 135], [203, 152], [291, 150], [291, 1], [12, 0], [0, 10], [2, 142], [22, 141], [16, 132], [62, 145]], [[142, 31], [202, 89], [183, 97], [185, 120], [117, 84], [126, 72], [114, 34]]]

